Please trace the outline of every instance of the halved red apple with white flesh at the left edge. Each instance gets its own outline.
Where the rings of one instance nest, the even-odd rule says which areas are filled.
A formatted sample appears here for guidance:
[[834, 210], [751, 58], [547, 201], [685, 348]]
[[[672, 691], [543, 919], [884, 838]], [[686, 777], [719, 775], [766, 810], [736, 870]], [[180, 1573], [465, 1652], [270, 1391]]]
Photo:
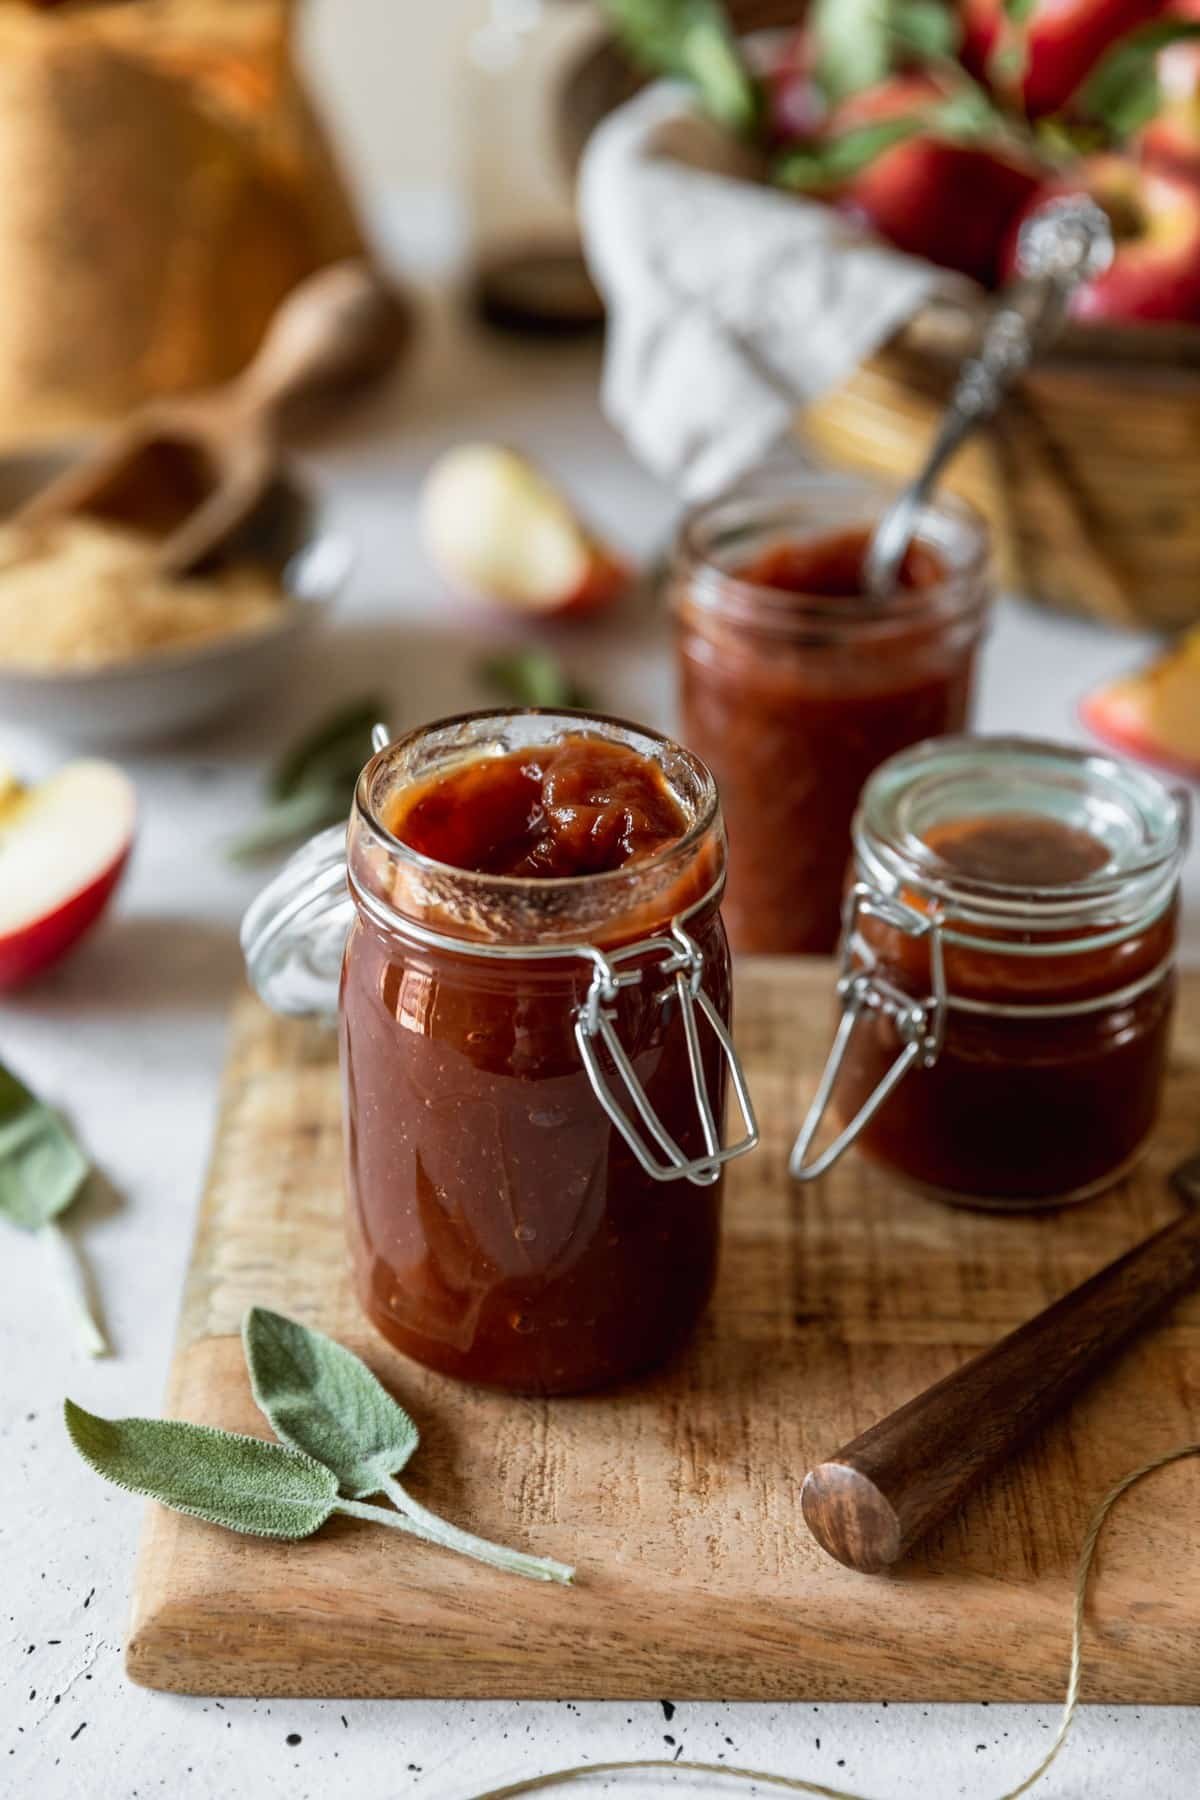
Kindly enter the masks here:
[[49, 968], [95, 923], [133, 815], [133, 787], [112, 763], [67, 763], [36, 788], [0, 778], [0, 988]]

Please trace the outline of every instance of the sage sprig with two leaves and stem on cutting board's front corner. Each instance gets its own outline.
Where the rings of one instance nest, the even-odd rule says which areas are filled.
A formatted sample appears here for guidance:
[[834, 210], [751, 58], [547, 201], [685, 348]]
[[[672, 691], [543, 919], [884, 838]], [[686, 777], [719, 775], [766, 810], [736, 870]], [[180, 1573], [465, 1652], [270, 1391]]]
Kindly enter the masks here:
[[[281, 1444], [178, 1418], [97, 1418], [67, 1400], [70, 1442], [115, 1487], [228, 1532], [311, 1537], [342, 1512], [511, 1575], [574, 1580], [565, 1562], [462, 1532], [405, 1492], [394, 1476], [417, 1447], [417, 1427], [342, 1345], [264, 1307], [246, 1314], [243, 1343], [254, 1397]], [[380, 1492], [396, 1510], [365, 1505]]]

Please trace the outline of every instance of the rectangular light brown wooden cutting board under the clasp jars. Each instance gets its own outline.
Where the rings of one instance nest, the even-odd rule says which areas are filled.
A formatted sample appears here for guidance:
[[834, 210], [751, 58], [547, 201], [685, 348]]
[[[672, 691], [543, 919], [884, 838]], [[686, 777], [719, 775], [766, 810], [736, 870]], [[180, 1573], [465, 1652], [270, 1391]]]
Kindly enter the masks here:
[[[421, 1426], [412, 1489], [477, 1532], [579, 1566], [498, 1575], [354, 1519], [243, 1539], [151, 1507], [128, 1669], [191, 1694], [1056, 1699], [1087, 1517], [1124, 1471], [1200, 1438], [1200, 1296], [889, 1577], [831, 1562], [801, 1481], [833, 1451], [1168, 1220], [1200, 1132], [1200, 977], [1184, 985], [1166, 1114], [1142, 1170], [1056, 1215], [954, 1211], [856, 1156], [786, 1179], [824, 1055], [824, 963], [739, 970], [763, 1123], [730, 1168], [716, 1301], [666, 1373], [579, 1400], [473, 1391], [360, 1318], [342, 1247], [333, 1039], [243, 999], [166, 1413], [266, 1433], [237, 1328], [261, 1301], [351, 1345]], [[408, 1480], [408, 1474], [405, 1476]], [[1200, 1701], [1200, 1469], [1137, 1489], [1105, 1530], [1083, 1692]]]

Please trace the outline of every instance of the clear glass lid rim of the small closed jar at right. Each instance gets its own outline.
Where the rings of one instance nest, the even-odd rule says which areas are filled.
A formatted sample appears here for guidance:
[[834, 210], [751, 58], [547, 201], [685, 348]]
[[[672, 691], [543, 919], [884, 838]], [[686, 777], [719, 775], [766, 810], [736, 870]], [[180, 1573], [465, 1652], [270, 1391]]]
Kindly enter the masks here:
[[[988, 781], [1002, 781], [1006, 765], [1013, 776], [1025, 776], [1025, 794], [1036, 796], [1042, 783], [1047, 797], [1043, 810], [1031, 803], [988, 806]], [[1058, 884], [968, 875], [941, 857], [918, 830], [921, 799], [928, 806], [954, 794], [959, 794], [955, 805], [963, 810], [948, 812], [946, 819], [972, 815], [966, 794], [975, 796], [981, 814], [1029, 812], [1061, 823], [1069, 823], [1072, 808], [1085, 806], [1085, 796], [1096, 797], [1097, 808], [1101, 801], [1108, 808], [1110, 835], [1092, 828], [1090, 819], [1081, 828], [1106, 844], [1110, 857], [1094, 873]], [[930, 738], [882, 763], [862, 792], [853, 841], [864, 873], [882, 880], [889, 891], [919, 889], [952, 922], [1009, 931], [1020, 923], [1034, 932], [1054, 932], [1052, 949], [1061, 954], [1069, 949], [1060, 936], [1063, 931], [1078, 927], [1096, 947], [1097, 925], [1144, 923], [1162, 911], [1187, 846], [1187, 815], [1182, 790], [1103, 751], [1049, 738], [964, 734]], [[1115, 839], [1121, 841], [1114, 848]], [[979, 936], [972, 938], [977, 947], [979, 941]]]

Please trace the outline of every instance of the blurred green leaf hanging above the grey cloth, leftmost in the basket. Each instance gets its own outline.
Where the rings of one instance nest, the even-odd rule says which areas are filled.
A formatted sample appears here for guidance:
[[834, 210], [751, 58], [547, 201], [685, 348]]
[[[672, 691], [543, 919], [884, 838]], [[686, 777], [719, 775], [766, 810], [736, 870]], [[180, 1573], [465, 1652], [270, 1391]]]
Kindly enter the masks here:
[[646, 68], [689, 81], [705, 112], [750, 137], [763, 117], [763, 92], [741, 56], [720, 0], [603, 0], [630, 56]]

